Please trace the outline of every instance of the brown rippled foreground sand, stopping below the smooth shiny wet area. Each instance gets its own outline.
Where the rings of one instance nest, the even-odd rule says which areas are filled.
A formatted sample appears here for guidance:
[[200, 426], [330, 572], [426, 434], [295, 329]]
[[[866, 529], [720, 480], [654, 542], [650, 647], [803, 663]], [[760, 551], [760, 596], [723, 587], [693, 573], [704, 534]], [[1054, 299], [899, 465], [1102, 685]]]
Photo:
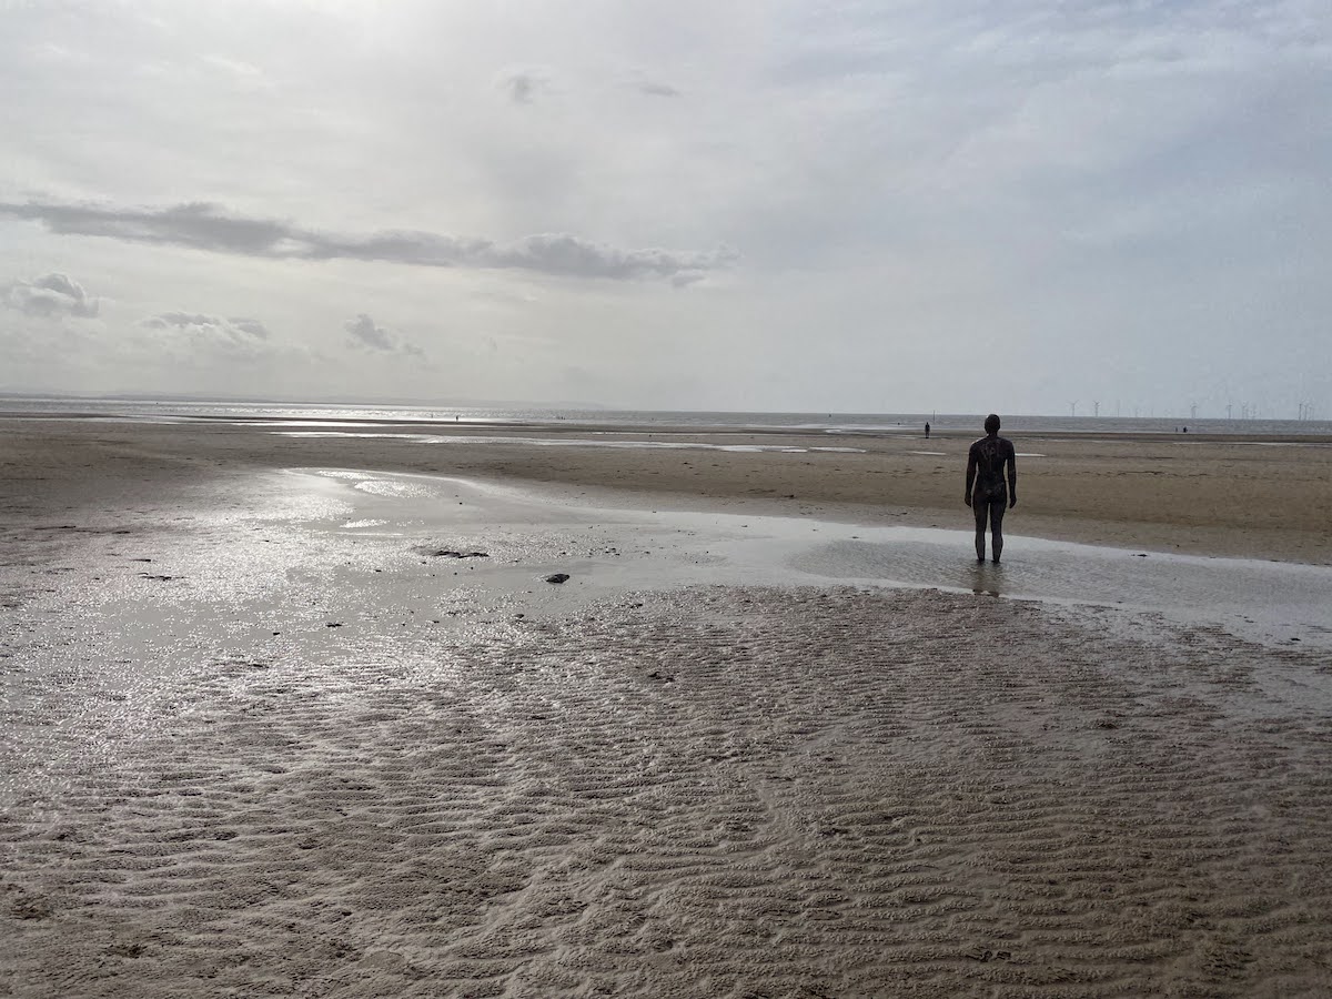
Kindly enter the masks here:
[[214, 661], [0, 821], [0, 994], [1324, 995], [1327, 667], [1171, 637], [702, 589]]

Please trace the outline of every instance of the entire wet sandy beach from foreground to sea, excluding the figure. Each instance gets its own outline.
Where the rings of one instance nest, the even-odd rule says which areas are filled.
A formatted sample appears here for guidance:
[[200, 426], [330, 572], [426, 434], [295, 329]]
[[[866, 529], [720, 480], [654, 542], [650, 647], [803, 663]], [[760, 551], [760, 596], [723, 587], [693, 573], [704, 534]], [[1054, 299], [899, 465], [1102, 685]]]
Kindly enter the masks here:
[[1321, 440], [0, 430], [0, 995], [1332, 987]]

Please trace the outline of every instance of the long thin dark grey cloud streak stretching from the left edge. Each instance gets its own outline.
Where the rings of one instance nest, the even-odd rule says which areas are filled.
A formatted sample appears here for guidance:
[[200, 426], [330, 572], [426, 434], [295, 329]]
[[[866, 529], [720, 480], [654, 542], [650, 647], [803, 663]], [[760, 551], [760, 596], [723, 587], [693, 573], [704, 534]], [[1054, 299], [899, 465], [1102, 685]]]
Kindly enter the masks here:
[[218, 205], [104, 208], [0, 201], [0, 214], [39, 221], [53, 233], [100, 236], [269, 260], [362, 260], [430, 268], [519, 269], [558, 277], [659, 278], [685, 284], [727, 266], [735, 250], [619, 249], [541, 233], [513, 242], [389, 229], [366, 236], [318, 232], [273, 218], [229, 214]]

